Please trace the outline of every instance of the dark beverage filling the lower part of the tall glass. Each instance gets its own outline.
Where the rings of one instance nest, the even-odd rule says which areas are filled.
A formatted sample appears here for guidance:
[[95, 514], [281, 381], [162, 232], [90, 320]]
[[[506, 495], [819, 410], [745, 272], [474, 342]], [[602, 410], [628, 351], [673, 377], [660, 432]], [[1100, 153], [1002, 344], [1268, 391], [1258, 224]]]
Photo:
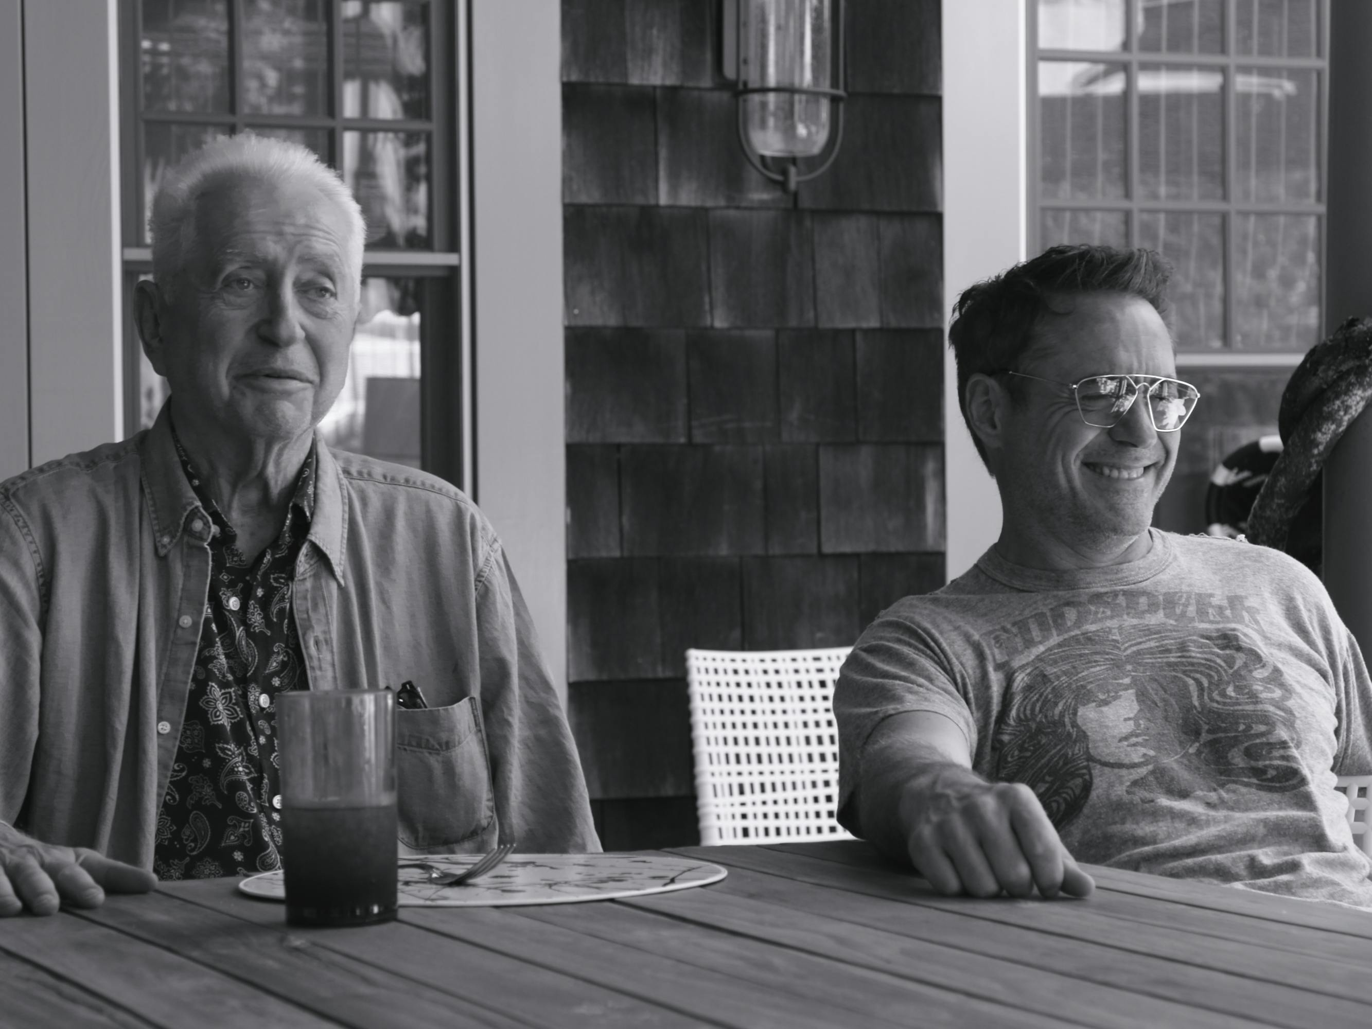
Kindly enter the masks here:
[[395, 799], [342, 807], [283, 801], [285, 921], [370, 925], [395, 918]]

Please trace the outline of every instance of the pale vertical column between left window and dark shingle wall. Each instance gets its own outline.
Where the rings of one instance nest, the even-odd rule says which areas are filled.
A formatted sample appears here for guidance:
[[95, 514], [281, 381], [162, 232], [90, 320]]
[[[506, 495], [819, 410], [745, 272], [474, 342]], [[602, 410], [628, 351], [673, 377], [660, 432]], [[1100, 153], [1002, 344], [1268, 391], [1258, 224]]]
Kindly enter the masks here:
[[472, 4], [475, 494], [565, 701], [561, 54], [558, 0]]

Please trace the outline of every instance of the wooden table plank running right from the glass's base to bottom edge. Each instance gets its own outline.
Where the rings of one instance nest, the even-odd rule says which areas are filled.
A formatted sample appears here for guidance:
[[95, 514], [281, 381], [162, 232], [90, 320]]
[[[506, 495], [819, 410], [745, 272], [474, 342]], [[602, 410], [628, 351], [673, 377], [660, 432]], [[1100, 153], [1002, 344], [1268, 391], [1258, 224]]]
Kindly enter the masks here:
[[401, 918], [718, 1025], [831, 1029], [853, 1021], [841, 1008], [797, 997], [790, 991], [761, 988], [624, 944], [553, 925], [531, 932], [530, 919], [512, 918], [508, 910], [466, 908], [461, 918], [453, 914], [416, 907], [403, 908]]

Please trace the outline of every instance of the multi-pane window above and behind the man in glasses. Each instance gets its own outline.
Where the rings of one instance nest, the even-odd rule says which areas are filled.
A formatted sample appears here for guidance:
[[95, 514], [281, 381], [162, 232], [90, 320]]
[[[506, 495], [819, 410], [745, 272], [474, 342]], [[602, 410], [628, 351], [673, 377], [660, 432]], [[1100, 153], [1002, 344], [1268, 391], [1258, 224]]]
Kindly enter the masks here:
[[1036, 250], [1158, 250], [1183, 353], [1314, 344], [1325, 12], [1327, 0], [1037, 0]]

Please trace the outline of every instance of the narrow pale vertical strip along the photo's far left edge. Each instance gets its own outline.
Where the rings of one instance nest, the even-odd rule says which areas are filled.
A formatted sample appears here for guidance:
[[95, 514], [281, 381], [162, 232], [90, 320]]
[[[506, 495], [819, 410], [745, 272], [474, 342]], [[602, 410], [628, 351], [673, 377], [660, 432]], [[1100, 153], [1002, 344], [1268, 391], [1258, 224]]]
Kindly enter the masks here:
[[23, 4], [0, 0], [0, 482], [29, 466]]

